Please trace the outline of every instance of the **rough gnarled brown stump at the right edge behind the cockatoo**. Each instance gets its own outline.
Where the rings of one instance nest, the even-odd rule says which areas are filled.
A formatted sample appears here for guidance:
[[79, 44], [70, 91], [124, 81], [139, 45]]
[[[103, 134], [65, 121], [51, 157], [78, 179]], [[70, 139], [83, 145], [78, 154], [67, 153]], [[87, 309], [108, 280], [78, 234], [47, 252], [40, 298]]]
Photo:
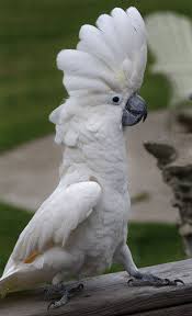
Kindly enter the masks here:
[[178, 134], [176, 139], [145, 143], [157, 158], [162, 178], [173, 191], [173, 206], [179, 208], [179, 232], [185, 252], [192, 256], [192, 135]]

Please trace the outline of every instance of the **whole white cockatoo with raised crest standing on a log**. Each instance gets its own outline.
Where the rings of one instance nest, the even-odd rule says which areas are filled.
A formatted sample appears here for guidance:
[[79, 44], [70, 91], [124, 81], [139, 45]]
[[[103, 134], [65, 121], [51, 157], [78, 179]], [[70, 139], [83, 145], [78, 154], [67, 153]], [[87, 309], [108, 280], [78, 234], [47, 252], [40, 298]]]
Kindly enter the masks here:
[[2, 295], [52, 283], [48, 293], [61, 297], [52, 308], [70, 296], [63, 282], [102, 273], [113, 261], [133, 283], [171, 283], [139, 272], [126, 245], [124, 128], [147, 116], [137, 94], [147, 60], [144, 21], [135, 8], [116, 8], [97, 27], [83, 25], [79, 37], [77, 49], [57, 56], [69, 94], [50, 114], [65, 147], [60, 181], [20, 235], [0, 279]]

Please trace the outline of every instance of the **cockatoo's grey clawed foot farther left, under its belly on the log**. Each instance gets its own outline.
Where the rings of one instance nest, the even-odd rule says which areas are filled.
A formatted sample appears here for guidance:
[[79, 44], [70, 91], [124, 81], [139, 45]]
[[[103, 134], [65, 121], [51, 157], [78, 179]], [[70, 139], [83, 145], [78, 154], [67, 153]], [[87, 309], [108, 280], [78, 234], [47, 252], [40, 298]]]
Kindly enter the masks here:
[[[49, 304], [47, 309], [55, 309], [58, 308], [60, 306], [66, 305], [69, 300], [71, 297], [74, 297], [75, 295], [77, 295], [79, 292], [81, 292], [83, 290], [83, 284], [78, 284], [78, 286], [75, 287], [70, 287], [70, 289], [66, 289], [66, 286], [64, 284], [57, 284], [57, 285], [53, 285], [48, 291], [48, 295], [53, 295], [55, 294], [55, 298], [57, 295], [57, 298], [60, 296], [60, 300], [53, 300]], [[50, 296], [49, 296], [50, 297]]]

